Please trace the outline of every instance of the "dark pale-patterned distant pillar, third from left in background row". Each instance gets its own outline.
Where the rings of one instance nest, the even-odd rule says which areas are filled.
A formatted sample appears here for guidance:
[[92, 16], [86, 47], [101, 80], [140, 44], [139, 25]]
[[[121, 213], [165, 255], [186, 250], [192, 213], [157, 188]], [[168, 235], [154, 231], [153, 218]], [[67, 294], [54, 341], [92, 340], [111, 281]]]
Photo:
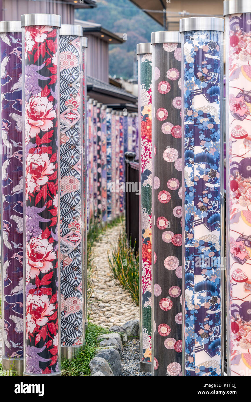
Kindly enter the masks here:
[[102, 221], [101, 187], [102, 187], [102, 162], [101, 162], [101, 107], [97, 103], [97, 217]]

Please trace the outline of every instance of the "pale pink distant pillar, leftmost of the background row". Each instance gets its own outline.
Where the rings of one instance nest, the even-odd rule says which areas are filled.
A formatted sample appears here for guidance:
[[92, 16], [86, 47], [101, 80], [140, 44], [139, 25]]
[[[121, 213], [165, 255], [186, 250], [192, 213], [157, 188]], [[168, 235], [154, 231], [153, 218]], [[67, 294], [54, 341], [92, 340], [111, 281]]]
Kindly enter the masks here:
[[89, 226], [93, 219], [94, 203], [93, 203], [93, 102], [90, 98], [88, 100], [88, 199], [89, 199]]

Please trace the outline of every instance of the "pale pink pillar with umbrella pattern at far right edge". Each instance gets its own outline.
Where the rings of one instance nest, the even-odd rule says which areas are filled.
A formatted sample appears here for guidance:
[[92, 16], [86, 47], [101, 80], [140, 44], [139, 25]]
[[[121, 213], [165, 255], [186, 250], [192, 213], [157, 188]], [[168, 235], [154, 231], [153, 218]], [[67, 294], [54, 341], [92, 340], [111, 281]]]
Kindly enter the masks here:
[[224, 15], [227, 363], [228, 375], [251, 376], [251, 3], [225, 1]]

